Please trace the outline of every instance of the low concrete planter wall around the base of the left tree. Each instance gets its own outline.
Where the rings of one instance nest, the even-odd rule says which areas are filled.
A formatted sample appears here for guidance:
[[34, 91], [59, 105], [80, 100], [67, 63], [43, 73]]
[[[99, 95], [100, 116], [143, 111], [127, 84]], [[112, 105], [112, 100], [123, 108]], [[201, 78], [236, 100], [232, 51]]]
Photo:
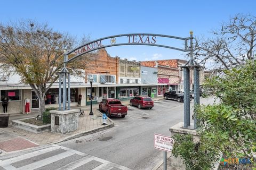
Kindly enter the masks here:
[[[34, 117], [30, 117], [30, 118], [34, 118]], [[23, 129], [23, 130], [33, 132], [33, 133], [43, 133], [43, 132], [51, 131], [51, 124], [37, 126], [34, 124], [29, 124], [29, 123], [21, 121], [21, 120], [26, 120], [26, 119], [29, 119], [29, 118], [23, 118], [20, 120], [12, 121], [12, 125], [15, 128]]]

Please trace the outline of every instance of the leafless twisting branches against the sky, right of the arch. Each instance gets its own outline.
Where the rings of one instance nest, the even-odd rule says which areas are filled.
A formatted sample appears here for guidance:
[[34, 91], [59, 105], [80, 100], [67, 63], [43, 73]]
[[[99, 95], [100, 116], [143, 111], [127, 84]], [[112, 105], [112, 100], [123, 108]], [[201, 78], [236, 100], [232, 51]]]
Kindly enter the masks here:
[[209, 39], [196, 38], [194, 56], [205, 67], [222, 71], [254, 60], [256, 17], [237, 14]]

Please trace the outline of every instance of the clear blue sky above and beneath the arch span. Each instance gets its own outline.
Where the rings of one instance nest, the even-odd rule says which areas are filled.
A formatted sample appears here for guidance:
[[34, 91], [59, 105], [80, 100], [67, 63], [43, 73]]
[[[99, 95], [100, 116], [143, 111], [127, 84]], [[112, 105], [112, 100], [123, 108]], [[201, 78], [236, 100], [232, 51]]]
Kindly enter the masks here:
[[[91, 40], [123, 33], [157, 33], [178, 37], [211, 37], [237, 13], [256, 15], [256, 1], [1, 1], [0, 22], [34, 19], [54, 30]], [[164, 40], [167, 41], [167, 40]], [[171, 41], [171, 42], [169, 42]], [[182, 42], [169, 39], [174, 47]], [[182, 52], [153, 46], [106, 48], [115, 57], [129, 60], [185, 59]]]

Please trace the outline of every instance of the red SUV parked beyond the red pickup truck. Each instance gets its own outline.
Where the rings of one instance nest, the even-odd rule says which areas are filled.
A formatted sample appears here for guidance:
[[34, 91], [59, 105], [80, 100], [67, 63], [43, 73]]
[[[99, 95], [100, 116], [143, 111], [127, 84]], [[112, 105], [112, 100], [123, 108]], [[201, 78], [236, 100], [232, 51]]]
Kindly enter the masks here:
[[139, 109], [151, 109], [152, 107], [154, 107], [154, 101], [150, 97], [136, 96], [130, 100], [130, 106], [137, 106]]

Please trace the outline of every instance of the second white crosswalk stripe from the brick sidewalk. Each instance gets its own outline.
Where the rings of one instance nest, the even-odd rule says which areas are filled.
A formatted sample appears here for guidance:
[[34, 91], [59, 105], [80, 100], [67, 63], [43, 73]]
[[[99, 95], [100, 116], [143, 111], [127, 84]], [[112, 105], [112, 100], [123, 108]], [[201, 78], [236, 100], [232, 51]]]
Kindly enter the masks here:
[[39, 160], [39, 161], [37, 161], [35, 163], [28, 164], [26, 166], [22, 166], [19, 169], [20, 170], [30, 170], [30, 169], [33, 170], [33, 169], [36, 169], [36, 168], [39, 168], [39, 167], [42, 167], [42, 166], [54, 163], [54, 162], [56, 162], [56, 161], [58, 161], [60, 159], [69, 157], [71, 155], [75, 155], [75, 154], [73, 152], [70, 152], [70, 151], [62, 152], [61, 154], [54, 155], [52, 157]]

